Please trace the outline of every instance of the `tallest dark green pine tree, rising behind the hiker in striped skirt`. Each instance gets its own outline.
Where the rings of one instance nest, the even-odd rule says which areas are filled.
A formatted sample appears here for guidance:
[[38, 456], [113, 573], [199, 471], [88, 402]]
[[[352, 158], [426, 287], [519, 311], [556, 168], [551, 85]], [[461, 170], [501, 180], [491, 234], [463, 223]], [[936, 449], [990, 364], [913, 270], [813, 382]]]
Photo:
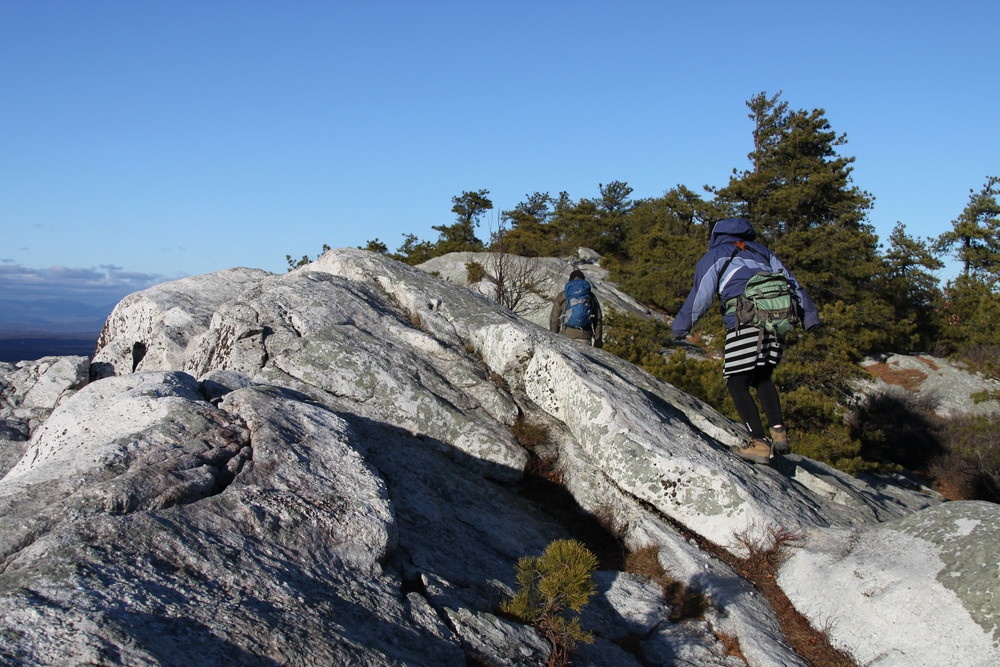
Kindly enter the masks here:
[[885, 291], [887, 268], [867, 222], [872, 198], [851, 183], [854, 158], [838, 153], [845, 135], [831, 130], [822, 109], [790, 111], [780, 95], [747, 102], [752, 169], [715, 191], [720, 204], [749, 217], [809, 290], [821, 318], [862, 354], [909, 348], [912, 327], [895, 321], [895, 295]]

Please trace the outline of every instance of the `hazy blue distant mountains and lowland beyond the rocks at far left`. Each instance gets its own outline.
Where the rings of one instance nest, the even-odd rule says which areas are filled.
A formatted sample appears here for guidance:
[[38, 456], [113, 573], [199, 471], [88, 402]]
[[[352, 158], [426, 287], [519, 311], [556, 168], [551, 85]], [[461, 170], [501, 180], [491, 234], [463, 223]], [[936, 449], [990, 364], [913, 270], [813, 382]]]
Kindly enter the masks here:
[[89, 356], [114, 307], [68, 299], [0, 299], [0, 361]]

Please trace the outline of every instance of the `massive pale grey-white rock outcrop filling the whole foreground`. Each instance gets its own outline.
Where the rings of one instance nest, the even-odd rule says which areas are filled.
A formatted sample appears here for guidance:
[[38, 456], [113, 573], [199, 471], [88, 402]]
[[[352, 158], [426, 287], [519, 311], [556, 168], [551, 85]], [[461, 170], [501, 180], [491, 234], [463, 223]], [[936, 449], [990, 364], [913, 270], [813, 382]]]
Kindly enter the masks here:
[[[578, 664], [743, 664], [723, 637], [751, 665], [805, 664], [698, 546], [740, 555], [737, 535], [775, 526], [804, 537], [780, 585], [860, 663], [1000, 660], [1000, 508], [796, 456], [746, 464], [708, 406], [378, 255], [133, 294], [89, 384], [55, 382], [35, 416], [8, 398], [26, 395], [25, 369], [0, 372], [16, 436], [0, 440], [0, 656], [14, 664], [544, 663], [546, 643], [498, 603], [518, 558], [575, 536], [563, 492], [710, 603], [673, 622], [655, 584], [603, 570]], [[535, 451], [524, 424], [548, 434]], [[538, 458], [557, 461], [549, 496], [527, 492]], [[899, 630], [942, 609], [960, 642]]]

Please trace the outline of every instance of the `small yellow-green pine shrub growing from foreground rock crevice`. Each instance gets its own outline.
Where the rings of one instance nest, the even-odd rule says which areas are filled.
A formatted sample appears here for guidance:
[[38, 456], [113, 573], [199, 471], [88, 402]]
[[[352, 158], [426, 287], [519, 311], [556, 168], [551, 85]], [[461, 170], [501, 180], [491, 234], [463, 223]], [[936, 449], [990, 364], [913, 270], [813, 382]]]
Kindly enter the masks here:
[[582, 542], [555, 540], [541, 556], [517, 562], [518, 590], [501, 610], [532, 625], [549, 642], [549, 667], [568, 665], [577, 643], [593, 635], [580, 626], [580, 610], [594, 594], [597, 557]]

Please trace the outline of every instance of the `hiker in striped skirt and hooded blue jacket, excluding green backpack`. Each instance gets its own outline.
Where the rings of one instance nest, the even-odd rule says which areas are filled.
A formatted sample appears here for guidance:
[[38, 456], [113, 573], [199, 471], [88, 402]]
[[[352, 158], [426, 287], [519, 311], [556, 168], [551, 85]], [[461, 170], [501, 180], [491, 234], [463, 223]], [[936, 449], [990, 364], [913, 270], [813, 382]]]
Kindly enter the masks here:
[[[771, 381], [771, 373], [781, 361], [785, 341], [756, 326], [741, 325], [735, 310], [736, 299], [755, 274], [780, 272], [788, 279], [798, 320], [806, 331], [819, 326], [819, 314], [795, 276], [756, 238], [753, 226], [744, 218], [726, 218], [715, 224], [708, 252], [695, 267], [691, 293], [674, 318], [673, 334], [677, 340], [686, 338], [698, 318], [705, 314], [715, 297], [719, 297], [723, 304], [722, 321], [726, 325], [722, 376], [749, 432], [748, 441], [742, 443], [736, 453], [755, 463], [769, 463], [773, 455], [790, 451], [778, 390]], [[770, 439], [750, 395], [751, 388], [756, 390], [767, 417]]]

